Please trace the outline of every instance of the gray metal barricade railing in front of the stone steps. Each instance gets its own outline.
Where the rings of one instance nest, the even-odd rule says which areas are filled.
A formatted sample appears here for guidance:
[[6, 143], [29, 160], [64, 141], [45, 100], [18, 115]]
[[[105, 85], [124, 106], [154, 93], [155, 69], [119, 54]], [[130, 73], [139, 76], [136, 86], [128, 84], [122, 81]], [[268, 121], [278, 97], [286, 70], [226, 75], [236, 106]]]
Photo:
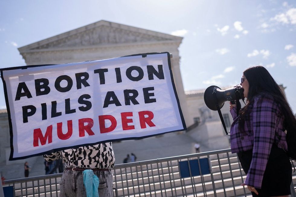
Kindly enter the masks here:
[[[198, 168], [204, 158], [210, 161], [209, 173]], [[188, 163], [189, 176], [181, 176], [182, 161]], [[198, 166], [191, 166], [193, 161], [197, 161]], [[245, 174], [230, 149], [117, 164], [112, 173], [114, 196], [251, 196], [249, 190], [240, 185]], [[17, 197], [57, 197], [61, 176], [62, 173], [58, 173], [6, 180], [4, 186], [13, 186]], [[296, 172], [292, 173], [292, 178], [296, 183]], [[294, 184], [291, 184], [291, 194], [295, 196]]]

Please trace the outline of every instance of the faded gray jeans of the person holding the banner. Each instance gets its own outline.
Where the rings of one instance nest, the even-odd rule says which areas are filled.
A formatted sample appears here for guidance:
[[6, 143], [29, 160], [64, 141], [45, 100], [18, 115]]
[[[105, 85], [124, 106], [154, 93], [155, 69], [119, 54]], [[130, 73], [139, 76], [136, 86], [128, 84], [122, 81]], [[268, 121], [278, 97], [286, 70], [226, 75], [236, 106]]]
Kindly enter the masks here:
[[[86, 197], [83, 171], [65, 170], [60, 180], [60, 197]], [[94, 171], [99, 177], [99, 197], [113, 197], [111, 171]]]

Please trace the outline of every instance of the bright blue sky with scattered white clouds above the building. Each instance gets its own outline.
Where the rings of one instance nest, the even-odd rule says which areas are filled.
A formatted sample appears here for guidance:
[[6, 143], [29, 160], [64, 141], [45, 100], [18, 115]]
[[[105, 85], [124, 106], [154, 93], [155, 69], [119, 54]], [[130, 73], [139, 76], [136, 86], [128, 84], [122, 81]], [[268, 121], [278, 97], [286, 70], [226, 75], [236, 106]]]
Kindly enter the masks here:
[[0, 68], [25, 65], [18, 47], [100, 20], [184, 37], [185, 90], [239, 84], [243, 70], [265, 66], [296, 113], [295, 1], [0, 0]]

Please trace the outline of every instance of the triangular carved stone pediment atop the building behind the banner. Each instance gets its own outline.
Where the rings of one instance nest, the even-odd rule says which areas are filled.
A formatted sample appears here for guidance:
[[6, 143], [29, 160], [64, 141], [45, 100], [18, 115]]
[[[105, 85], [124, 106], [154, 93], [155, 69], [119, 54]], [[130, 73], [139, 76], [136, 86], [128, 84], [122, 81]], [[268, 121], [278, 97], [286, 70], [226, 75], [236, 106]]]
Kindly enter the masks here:
[[181, 43], [182, 37], [102, 20], [18, 49], [22, 53], [40, 49], [163, 41], [176, 41]]

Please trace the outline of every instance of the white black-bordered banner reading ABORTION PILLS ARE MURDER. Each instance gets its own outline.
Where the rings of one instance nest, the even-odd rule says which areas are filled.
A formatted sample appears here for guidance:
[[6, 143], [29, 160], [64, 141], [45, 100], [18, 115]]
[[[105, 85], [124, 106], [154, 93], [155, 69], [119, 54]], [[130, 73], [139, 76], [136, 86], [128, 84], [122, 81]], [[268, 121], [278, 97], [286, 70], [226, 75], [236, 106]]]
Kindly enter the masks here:
[[0, 70], [10, 160], [186, 129], [168, 52]]

